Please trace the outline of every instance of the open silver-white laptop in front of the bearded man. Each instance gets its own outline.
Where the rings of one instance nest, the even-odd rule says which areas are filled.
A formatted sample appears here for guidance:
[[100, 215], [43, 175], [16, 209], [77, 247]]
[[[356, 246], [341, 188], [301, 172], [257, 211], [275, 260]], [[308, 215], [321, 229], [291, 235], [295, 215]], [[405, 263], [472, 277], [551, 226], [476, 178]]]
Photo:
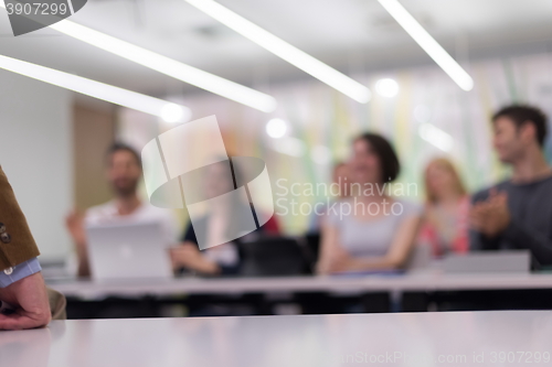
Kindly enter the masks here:
[[93, 279], [172, 277], [161, 224], [94, 225], [86, 233]]

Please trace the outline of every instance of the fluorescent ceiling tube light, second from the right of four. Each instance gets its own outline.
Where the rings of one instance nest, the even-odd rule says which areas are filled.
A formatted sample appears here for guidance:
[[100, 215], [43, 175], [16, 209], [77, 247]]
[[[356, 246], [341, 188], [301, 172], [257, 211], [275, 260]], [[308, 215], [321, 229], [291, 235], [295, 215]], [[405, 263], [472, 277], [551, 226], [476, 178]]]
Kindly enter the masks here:
[[305, 73], [336, 88], [352, 99], [365, 104], [370, 100], [370, 89], [347, 75], [316, 60], [284, 40], [234, 13], [230, 9], [212, 0], [185, 0], [211, 18], [236, 31], [244, 37], [255, 42], [276, 56], [295, 65]]

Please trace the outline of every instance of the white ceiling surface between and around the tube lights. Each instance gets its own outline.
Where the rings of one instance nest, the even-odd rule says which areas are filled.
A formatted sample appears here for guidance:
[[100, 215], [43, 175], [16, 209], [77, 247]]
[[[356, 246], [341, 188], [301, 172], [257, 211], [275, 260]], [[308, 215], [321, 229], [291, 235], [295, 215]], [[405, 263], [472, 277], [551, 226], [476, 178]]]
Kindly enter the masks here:
[[[431, 63], [376, 0], [220, 0], [344, 73]], [[552, 52], [550, 0], [402, 0], [460, 61]], [[251, 85], [310, 78], [183, 0], [88, 0], [72, 20]], [[53, 30], [13, 37], [0, 10], [0, 54], [150, 95], [199, 89]]]

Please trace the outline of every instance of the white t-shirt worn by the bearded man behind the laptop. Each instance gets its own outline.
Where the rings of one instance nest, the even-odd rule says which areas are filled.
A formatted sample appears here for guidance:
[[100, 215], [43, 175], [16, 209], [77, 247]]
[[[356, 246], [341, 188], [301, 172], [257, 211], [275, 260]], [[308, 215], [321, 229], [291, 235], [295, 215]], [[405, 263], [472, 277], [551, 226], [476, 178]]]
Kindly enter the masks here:
[[86, 211], [85, 226], [102, 224], [160, 223], [168, 246], [178, 242], [178, 225], [170, 209], [141, 203], [131, 214], [120, 215], [115, 201], [93, 206]]

